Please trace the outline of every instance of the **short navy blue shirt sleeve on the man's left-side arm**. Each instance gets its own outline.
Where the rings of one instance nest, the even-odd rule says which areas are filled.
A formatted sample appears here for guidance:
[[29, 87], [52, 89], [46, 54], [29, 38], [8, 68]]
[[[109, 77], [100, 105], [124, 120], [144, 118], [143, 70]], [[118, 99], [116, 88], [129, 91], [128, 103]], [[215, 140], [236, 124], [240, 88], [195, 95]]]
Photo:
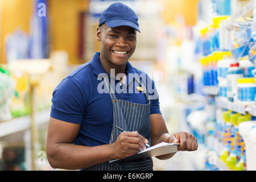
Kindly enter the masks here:
[[64, 78], [53, 90], [50, 116], [61, 121], [81, 124], [86, 100], [79, 82]]

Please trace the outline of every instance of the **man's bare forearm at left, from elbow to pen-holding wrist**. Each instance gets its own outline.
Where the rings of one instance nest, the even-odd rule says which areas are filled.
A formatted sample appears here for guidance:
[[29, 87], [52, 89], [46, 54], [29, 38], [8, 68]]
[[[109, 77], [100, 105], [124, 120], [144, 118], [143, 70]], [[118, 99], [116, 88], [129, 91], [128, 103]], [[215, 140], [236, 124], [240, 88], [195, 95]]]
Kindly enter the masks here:
[[54, 150], [47, 152], [48, 161], [53, 168], [83, 169], [114, 159], [111, 144], [88, 147], [59, 143], [54, 147]]

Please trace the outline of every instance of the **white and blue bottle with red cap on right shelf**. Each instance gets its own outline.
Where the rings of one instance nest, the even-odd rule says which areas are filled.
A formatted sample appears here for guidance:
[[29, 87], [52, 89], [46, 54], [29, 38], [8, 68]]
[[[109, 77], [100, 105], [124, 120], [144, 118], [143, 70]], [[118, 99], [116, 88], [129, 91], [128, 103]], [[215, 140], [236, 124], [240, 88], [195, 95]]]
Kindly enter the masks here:
[[228, 69], [227, 80], [227, 97], [230, 102], [237, 101], [237, 80], [243, 77], [242, 68], [239, 67], [239, 63], [230, 64]]

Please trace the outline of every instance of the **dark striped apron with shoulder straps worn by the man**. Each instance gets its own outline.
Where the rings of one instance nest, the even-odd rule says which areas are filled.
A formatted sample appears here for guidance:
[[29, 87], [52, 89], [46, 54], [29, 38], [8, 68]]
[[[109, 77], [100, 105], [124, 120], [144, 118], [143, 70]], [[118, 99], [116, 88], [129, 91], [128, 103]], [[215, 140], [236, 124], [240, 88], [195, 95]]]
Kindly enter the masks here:
[[[113, 78], [110, 77], [110, 79]], [[146, 92], [146, 84], [144, 84], [143, 79], [140, 83], [139, 78], [135, 76], [135, 80], [138, 82], [138, 85], [142, 86], [144, 94], [146, 95], [147, 104], [137, 104], [134, 102], [118, 100], [115, 96], [112, 86], [109, 83], [109, 79], [104, 78], [105, 85], [108, 85], [108, 91], [113, 104], [113, 127], [109, 143], [114, 143], [118, 135], [121, 134], [122, 131], [115, 127], [118, 126], [125, 131], [138, 131], [138, 133], [141, 134], [144, 138], [147, 138], [148, 144], [151, 144], [150, 100], [148, 98], [148, 93]], [[104, 162], [83, 170], [152, 171], [153, 162], [152, 158], [114, 163]]]

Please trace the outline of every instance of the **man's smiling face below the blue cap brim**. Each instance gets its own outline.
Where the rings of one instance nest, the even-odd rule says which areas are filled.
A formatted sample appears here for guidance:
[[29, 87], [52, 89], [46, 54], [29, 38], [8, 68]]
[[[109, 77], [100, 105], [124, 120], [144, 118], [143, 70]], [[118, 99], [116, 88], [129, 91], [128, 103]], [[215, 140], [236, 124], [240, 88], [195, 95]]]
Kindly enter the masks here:
[[128, 26], [110, 28], [102, 24], [96, 38], [101, 42], [100, 59], [106, 69], [125, 68], [136, 48], [136, 30]]

